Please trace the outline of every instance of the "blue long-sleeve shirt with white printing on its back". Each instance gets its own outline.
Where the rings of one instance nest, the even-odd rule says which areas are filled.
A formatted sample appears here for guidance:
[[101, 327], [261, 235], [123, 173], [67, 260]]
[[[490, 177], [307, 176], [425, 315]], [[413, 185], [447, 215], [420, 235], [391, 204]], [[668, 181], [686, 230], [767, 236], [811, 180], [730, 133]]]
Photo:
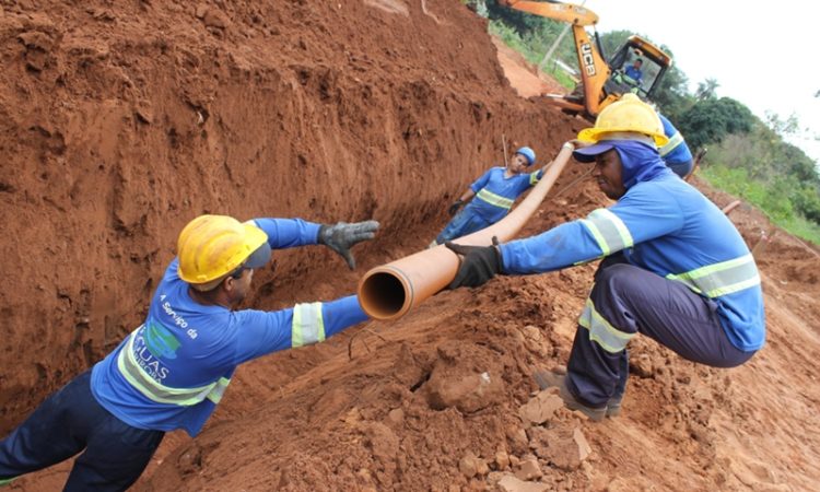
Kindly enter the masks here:
[[[316, 244], [318, 224], [300, 219], [257, 219], [255, 222], [268, 234], [271, 248]], [[194, 436], [215, 409], [218, 398], [203, 398], [192, 405], [156, 401], [139, 389], [139, 378], [129, 377], [128, 371], [124, 371], [122, 365], [128, 361], [134, 361], [142, 372], [141, 377], [168, 388], [168, 394], [207, 388], [218, 382], [226, 386], [244, 362], [321, 341], [367, 319], [355, 295], [274, 312], [201, 305], [190, 297], [188, 284], [177, 274], [177, 266], [175, 258], [165, 270], [143, 325], [92, 368], [94, 397], [134, 427], [185, 429]], [[312, 314], [313, 319], [296, 320], [306, 314]], [[320, 326], [318, 340], [295, 328], [303, 323]], [[132, 358], [126, 359], [128, 355]]]

